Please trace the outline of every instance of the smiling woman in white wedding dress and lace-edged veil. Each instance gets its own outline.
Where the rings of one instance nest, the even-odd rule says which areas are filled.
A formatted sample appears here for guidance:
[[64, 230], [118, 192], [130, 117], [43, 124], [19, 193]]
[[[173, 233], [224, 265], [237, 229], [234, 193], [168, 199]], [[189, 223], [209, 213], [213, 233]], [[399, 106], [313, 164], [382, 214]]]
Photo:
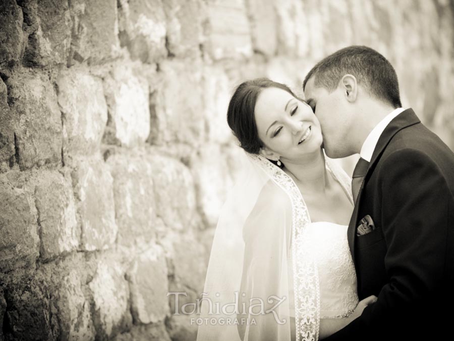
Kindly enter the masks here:
[[329, 336], [376, 300], [358, 302], [351, 179], [325, 157], [312, 108], [284, 84], [242, 83], [227, 119], [246, 162], [216, 227], [197, 339]]

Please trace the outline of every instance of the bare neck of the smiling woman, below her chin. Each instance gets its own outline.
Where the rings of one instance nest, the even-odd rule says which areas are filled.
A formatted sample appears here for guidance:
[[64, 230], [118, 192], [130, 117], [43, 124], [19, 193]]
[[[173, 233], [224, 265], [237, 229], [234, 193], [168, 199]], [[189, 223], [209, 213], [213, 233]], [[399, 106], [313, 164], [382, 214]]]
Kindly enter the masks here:
[[286, 162], [283, 170], [308, 191], [325, 190], [327, 181], [325, 156], [321, 148], [298, 163]]

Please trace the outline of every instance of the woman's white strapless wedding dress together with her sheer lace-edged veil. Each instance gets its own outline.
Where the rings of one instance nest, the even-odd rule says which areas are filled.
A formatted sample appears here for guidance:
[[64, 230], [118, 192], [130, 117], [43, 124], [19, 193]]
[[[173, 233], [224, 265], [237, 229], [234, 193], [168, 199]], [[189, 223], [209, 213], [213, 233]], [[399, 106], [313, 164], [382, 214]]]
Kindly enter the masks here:
[[[358, 304], [347, 226], [312, 222], [289, 175], [261, 156], [247, 158], [216, 227], [197, 340], [292, 341], [295, 330], [297, 341], [317, 341], [320, 319], [348, 316]], [[327, 158], [326, 171], [353, 202], [345, 171]], [[222, 310], [244, 302], [240, 314]]]

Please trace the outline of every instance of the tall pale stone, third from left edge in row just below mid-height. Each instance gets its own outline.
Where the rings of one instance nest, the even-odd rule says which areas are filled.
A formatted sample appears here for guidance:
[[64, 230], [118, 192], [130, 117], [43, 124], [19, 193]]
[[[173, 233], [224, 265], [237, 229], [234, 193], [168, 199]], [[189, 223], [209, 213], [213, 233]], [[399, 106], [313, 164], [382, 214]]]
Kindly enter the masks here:
[[117, 236], [113, 179], [100, 157], [80, 160], [71, 173], [81, 225], [81, 249], [108, 249]]

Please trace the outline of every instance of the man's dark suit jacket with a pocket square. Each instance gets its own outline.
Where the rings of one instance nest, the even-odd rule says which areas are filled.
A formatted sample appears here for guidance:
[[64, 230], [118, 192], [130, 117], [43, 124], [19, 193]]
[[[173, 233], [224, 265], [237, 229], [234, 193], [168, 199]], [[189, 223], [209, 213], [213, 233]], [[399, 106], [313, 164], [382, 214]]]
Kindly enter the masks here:
[[[377, 228], [357, 236], [366, 215]], [[326, 340], [452, 337], [454, 154], [412, 109], [378, 140], [348, 239], [359, 299], [375, 295], [378, 301]]]

